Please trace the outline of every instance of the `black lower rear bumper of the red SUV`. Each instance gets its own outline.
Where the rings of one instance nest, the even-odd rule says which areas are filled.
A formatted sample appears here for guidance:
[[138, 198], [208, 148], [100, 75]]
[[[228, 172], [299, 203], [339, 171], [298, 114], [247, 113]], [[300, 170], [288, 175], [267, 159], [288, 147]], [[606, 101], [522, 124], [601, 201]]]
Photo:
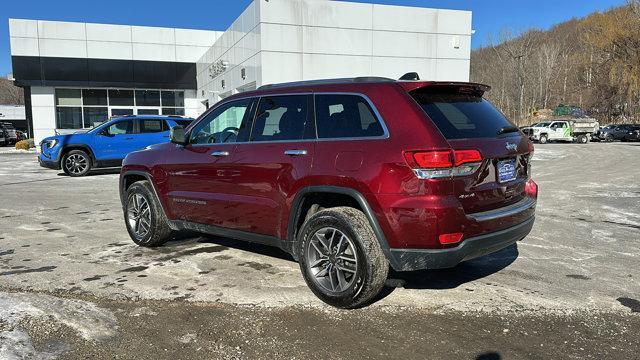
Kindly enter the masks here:
[[449, 249], [390, 249], [391, 262], [397, 271], [452, 268], [459, 263], [502, 250], [524, 239], [535, 217], [513, 227], [464, 240]]

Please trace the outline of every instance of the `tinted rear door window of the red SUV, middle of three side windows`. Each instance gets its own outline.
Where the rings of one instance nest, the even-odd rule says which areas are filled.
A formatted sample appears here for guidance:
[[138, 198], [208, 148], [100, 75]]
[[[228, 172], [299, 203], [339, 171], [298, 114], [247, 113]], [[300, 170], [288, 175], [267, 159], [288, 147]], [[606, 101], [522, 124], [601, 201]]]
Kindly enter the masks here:
[[251, 141], [301, 140], [307, 125], [307, 96], [260, 99]]

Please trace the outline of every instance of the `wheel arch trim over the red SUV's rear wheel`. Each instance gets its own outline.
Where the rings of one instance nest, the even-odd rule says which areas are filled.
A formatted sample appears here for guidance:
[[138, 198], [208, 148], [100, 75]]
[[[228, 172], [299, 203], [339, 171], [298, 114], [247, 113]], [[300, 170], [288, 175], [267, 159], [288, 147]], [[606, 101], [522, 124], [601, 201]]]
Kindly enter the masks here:
[[353, 201], [352, 204], [356, 204], [358, 210], [362, 211], [369, 221], [373, 232], [376, 235], [376, 239], [382, 248], [382, 251], [391, 264], [393, 268], [396, 268], [396, 262], [393, 256], [391, 256], [391, 250], [389, 248], [389, 244], [387, 243], [387, 238], [378, 223], [377, 218], [371, 206], [365, 199], [365, 197], [358, 191], [351, 188], [344, 188], [339, 186], [308, 186], [302, 188], [300, 191], [296, 193], [296, 196], [291, 205], [291, 211], [289, 212], [288, 223], [287, 223], [287, 238], [286, 238], [286, 250], [289, 251], [293, 255], [295, 259], [298, 259], [298, 254], [295, 249], [297, 248], [295, 244], [298, 241], [298, 231], [302, 227], [304, 223], [304, 216], [306, 212], [305, 208], [309, 205], [308, 200], [313, 199], [314, 196], [318, 195], [338, 195], [342, 197], [346, 197]]

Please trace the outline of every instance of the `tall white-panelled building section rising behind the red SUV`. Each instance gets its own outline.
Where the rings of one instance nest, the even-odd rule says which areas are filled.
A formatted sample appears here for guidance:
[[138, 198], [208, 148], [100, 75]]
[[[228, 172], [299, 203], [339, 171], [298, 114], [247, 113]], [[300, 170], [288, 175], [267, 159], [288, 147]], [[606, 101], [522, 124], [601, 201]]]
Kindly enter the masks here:
[[198, 61], [210, 103], [261, 85], [417, 72], [468, 81], [471, 12], [319, 0], [254, 1]]

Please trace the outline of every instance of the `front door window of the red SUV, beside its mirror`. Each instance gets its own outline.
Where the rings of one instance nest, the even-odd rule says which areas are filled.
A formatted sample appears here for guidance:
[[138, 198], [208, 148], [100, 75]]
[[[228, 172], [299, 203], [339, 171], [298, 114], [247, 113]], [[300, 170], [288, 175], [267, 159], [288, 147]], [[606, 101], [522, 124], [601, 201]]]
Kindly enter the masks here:
[[191, 144], [220, 144], [237, 142], [246, 132], [243, 122], [251, 99], [232, 101], [205, 116], [191, 131]]

